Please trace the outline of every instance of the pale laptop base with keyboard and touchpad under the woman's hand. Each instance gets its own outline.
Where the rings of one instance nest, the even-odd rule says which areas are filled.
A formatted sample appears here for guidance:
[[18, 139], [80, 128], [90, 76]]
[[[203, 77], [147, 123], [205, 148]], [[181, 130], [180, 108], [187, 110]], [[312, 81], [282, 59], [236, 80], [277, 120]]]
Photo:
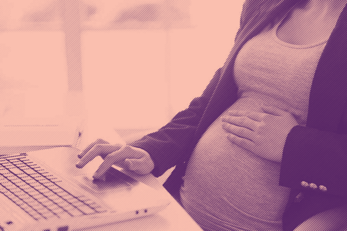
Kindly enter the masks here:
[[[116, 166], [105, 181], [94, 181], [91, 176], [102, 159], [80, 170], [74, 167], [78, 152], [59, 147], [0, 156], [1, 231], [97, 230], [157, 213], [169, 204], [159, 187]], [[153, 176], [143, 176], [142, 182], [148, 177]]]

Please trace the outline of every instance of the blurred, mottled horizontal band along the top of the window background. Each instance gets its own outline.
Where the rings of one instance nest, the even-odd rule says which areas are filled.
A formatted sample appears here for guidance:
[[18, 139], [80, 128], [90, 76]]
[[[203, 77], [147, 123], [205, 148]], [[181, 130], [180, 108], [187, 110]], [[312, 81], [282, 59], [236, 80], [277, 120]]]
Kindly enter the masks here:
[[75, 33], [80, 33], [84, 30], [187, 28], [191, 27], [189, 4], [189, 0], [147, 3], [49, 0], [28, 4], [20, 19], [12, 20], [8, 16], [13, 4], [5, 0], [1, 4], [3, 15], [0, 18], [2, 22], [0, 29], [2, 31], [73, 30]]

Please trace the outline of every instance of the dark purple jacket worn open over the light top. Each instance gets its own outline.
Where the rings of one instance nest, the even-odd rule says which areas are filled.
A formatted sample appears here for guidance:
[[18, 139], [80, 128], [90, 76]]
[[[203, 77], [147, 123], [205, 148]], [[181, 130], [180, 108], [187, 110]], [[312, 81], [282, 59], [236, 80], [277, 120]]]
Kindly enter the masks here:
[[[213, 76], [202, 96], [179, 112], [166, 126], [132, 146], [146, 150], [154, 161], [154, 176], [176, 165], [164, 187], [179, 201], [179, 189], [188, 160], [203, 133], [237, 100], [233, 67], [242, 46], [258, 35], [285, 1], [246, 1], [235, 45], [225, 65]], [[297, 225], [318, 212], [346, 205], [347, 193], [347, 117], [346, 62], [347, 8], [342, 11], [335, 29], [319, 60], [310, 92], [307, 126], [291, 129], [283, 149], [280, 185], [291, 188], [283, 214], [283, 229]], [[301, 182], [324, 185], [326, 193], [305, 191]], [[304, 193], [301, 202], [295, 196]]]

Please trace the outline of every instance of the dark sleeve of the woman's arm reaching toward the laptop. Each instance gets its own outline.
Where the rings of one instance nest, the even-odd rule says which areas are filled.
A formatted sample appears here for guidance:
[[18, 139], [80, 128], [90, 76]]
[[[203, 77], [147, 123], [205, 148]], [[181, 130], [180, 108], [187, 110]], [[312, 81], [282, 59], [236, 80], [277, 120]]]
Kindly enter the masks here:
[[194, 134], [198, 123], [217, 86], [221, 68], [214, 74], [203, 94], [195, 98], [189, 107], [179, 112], [168, 124], [157, 132], [144, 136], [131, 144], [133, 147], [147, 151], [153, 162], [153, 175], [158, 177], [167, 169], [186, 158], [186, 149], [194, 142]]

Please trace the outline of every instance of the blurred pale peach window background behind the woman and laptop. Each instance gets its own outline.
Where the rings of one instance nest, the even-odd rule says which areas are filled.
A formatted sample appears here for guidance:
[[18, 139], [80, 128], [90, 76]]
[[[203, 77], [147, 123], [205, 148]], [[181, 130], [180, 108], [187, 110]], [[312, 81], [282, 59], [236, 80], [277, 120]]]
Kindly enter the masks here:
[[224, 64], [242, 4], [1, 0], [0, 120], [74, 115], [87, 142], [155, 131]]

